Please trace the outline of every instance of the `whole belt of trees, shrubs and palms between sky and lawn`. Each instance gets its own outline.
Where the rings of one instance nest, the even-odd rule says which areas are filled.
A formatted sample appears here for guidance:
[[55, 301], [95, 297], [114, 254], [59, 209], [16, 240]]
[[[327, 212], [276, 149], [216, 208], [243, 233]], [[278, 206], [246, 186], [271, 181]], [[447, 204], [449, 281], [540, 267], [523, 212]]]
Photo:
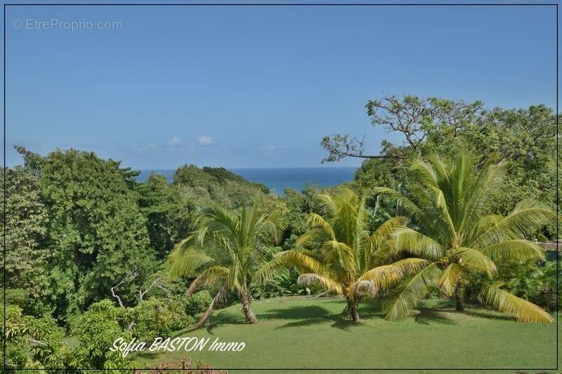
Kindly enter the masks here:
[[[530, 302], [555, 309], [556, 267], [537, 263], [542, 252], [527, 240], [555, 239], [555, 220], [544, 227], [542, 219], [556, 203], [551, 109], [486, 109], [481, 102], [415, 96], [373, 100], [366, 109], [374, 126], [402, 133], [403, 145], [383, 140], [379, 158], [365, 154], [362, 140], [326, 137], [325, 161], [367, 158], [355, 180], [344, 188], [286, 189], [282, 196], [225, 168], [185, 164], [171, 183], [162, 175], [141, 183], [136, 171], [93, 152], [57, 149], [42, 156], [16, 147], [24, 165], [6, 168], [3, 185], [8, 364], [125, 367], [129, 358], [107, 349], [118, 337], [170, 335], [239, 300], [254, 322], [252, 300], [282, 295], [341, 293], [354, 319], [358, 308], [374, 316], [367, 299], [381, 296], [390, 300], [388, 318], [408, 319], [422, 293], [456, 294], [524, 321], [549, 321]], [[421, 161], [432, 154], [440, 159]], [[473, 165], [440, 165], [457, 154]], [[490, 157], [501, 163], [503, 178], [474, 208], [468, 191], [478, 191], [478, 176], [489, 175]], [[412, 161], [418, 162], [415, 170]], [[464, 181], [447, 187], [444, 175]], [[521, 203], [528, 199], [535, 202]], [[459, 212], [471, 206], [481, 220], [463, 224]], [[501, 223], [522, 212], [530, 213], [514, 225]], [[466, 225], [496, 235], [486, 245], [476, 243]], [[503, 233], [497, 229], [502, 225], [508, 227]], [[502, 248], [492, 251], [493, 245]], [[170, 279], [170, 270], [181, 279]], [[421, 278], [424, 286], [416, 283]], [[190, 294], [196, 288], [205, 290]], [[329, 306], [330, 313], [337, 305], [341, 312], [341, 301]], [[293, 318], [264, 305], [257, 308], [264, 319], [267, 313]], [[306, 318], [295, 317], [297, 327], [322, 319], [315, 315], [324, 313], [322, 307], [300, 307]], [[230, 315], [240, 307], [227, 310]], [[347, 322], [329, 317], [328, 323]]]

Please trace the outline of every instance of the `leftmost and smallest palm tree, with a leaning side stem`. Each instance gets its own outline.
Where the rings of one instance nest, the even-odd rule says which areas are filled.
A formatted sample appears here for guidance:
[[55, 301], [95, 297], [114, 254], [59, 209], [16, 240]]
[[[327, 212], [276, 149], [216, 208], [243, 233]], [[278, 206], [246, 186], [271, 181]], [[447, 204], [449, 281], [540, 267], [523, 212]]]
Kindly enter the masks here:
[[235, 292], [242, 301], [242, 311], [249, 323], [258, 319], [251, 309], [249, 283], [251, 274], [265, 262], [262, 251], [267, 241], [277, 239], [282, 230], [275, 212], [261, 213], [263, 196], [256, 196], [251, 206], [229, 211], [217, 205], [202, 209], [195, 220], [197, 229], [176, 245], [170, 253], [171, 276], [194, 276], [188, 295], [199, 288], [216, 290], [211, 306], [198, 325], [209, 316], [217, 300]]

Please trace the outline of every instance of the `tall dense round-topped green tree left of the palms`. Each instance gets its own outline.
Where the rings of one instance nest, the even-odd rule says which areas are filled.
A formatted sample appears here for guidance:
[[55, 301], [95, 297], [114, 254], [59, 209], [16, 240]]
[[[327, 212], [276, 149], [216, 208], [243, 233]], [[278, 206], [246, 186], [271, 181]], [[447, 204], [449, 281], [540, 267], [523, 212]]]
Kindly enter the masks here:
[[[147, 276], [155, 265], [129, 169], [75, 149], [48, 154], [41, 165], [41, 196], [53, 251], [49, 270], [59, 316], [110, 296], [127, 272]], [[125, 266], [126, 265], [126, 266]], [[124, 286], [124, 300], [144, 279]]]

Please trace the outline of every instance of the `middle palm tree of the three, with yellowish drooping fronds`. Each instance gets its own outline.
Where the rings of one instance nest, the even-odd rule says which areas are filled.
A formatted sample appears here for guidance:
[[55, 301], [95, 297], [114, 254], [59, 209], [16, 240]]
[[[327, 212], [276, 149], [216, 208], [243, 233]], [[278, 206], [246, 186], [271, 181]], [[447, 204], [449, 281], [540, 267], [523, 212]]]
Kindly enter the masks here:
[[365, 295], [377, 295], [403, 276], [417, 269], [419, 259], [394, 262], [386, 239], [392, 229], [405, 223], [405, 218], [390, 218], [370, 232], [369, 211], [365, 196], [341, 188], [335, 194], [319, 194], [323, 214], [308, 215], [310, 229], [296, 242], [313, 250], [292, 249], [277, 253], [275, 258], [256, 273], [256, 279], [267, 281], [280, 267], [295, 266], [301, 272], [300, 284], [315, 284], [347, 299], [344, 313], [359, 321], [357, 305]]

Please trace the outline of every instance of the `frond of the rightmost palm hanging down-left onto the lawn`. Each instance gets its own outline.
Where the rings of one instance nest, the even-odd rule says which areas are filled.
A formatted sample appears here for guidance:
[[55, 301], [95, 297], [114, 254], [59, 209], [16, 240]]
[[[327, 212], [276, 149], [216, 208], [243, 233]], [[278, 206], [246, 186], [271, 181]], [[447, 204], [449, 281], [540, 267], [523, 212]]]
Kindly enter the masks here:
[[432, 263], [403, 281], [385, 302], [385, 318], [392, 321], [407, 316], [429, 292], [429, 287], [436, 284], [440, 273], [437, 265]]

